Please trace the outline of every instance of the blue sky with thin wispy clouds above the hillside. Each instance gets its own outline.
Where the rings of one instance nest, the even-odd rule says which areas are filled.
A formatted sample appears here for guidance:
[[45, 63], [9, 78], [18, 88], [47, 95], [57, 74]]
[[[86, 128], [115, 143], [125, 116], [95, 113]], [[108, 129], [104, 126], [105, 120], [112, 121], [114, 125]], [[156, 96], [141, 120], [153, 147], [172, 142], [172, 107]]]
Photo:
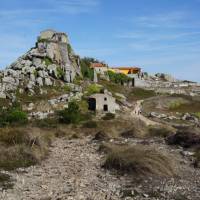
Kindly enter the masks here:
[[200, 82], [200, 0], [0, 2], [0, 68], [43, 29], [66, 32], [75, 52]]

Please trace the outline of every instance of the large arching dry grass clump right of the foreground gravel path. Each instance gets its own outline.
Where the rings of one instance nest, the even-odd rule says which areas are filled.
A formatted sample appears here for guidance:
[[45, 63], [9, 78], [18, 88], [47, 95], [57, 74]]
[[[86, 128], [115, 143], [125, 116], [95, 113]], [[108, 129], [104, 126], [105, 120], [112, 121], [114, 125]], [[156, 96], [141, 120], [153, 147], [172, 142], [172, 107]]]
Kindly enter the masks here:
[[105, 149], [109, 152], [103, 165], [106, 169], [114, 169], [122, 174], [132, 173], [135, 176], [152, 174], [168, 177], [176, 174], [172, 159], [155, 149], [143, 145], [107, 145]]

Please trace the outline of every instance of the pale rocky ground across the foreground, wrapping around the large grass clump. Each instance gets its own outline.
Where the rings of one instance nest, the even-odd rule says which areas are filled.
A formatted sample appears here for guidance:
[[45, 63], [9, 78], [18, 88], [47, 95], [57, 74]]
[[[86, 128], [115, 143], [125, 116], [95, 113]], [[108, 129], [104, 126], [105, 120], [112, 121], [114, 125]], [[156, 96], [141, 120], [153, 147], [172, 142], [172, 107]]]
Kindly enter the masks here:
[[41, 165], [12, 172], [13, 189], [2, 191], [4, 200], [198, 200], [200, 171], [182, 148], [167, 146], [162, 139], [119, 139], [115, 144], [146, 144], [173, 155], [178, 176], [133, 177], [109, 173], [101, 168], [104, 155], [91, 137], [57, 139]]

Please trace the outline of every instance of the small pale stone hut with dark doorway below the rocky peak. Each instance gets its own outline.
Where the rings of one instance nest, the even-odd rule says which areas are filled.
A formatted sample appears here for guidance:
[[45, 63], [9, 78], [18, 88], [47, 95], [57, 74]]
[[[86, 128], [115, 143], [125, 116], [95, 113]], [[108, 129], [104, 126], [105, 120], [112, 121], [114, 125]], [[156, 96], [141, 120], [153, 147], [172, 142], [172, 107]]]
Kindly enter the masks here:
[[119, 110], [116, 99], [108, 92], [93, 94], [88, 99], [88, 108], [91, 111], [115, 113]]

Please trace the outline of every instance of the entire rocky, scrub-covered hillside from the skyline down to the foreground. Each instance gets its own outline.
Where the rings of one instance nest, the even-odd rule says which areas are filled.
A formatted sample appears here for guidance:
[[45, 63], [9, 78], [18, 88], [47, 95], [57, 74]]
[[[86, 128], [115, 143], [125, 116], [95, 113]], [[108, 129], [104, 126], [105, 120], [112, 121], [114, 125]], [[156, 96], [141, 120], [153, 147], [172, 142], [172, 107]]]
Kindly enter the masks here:
[[41, 32], [0, 74], [0, 199], [198, 200], [199, 84], [137, 70]]

